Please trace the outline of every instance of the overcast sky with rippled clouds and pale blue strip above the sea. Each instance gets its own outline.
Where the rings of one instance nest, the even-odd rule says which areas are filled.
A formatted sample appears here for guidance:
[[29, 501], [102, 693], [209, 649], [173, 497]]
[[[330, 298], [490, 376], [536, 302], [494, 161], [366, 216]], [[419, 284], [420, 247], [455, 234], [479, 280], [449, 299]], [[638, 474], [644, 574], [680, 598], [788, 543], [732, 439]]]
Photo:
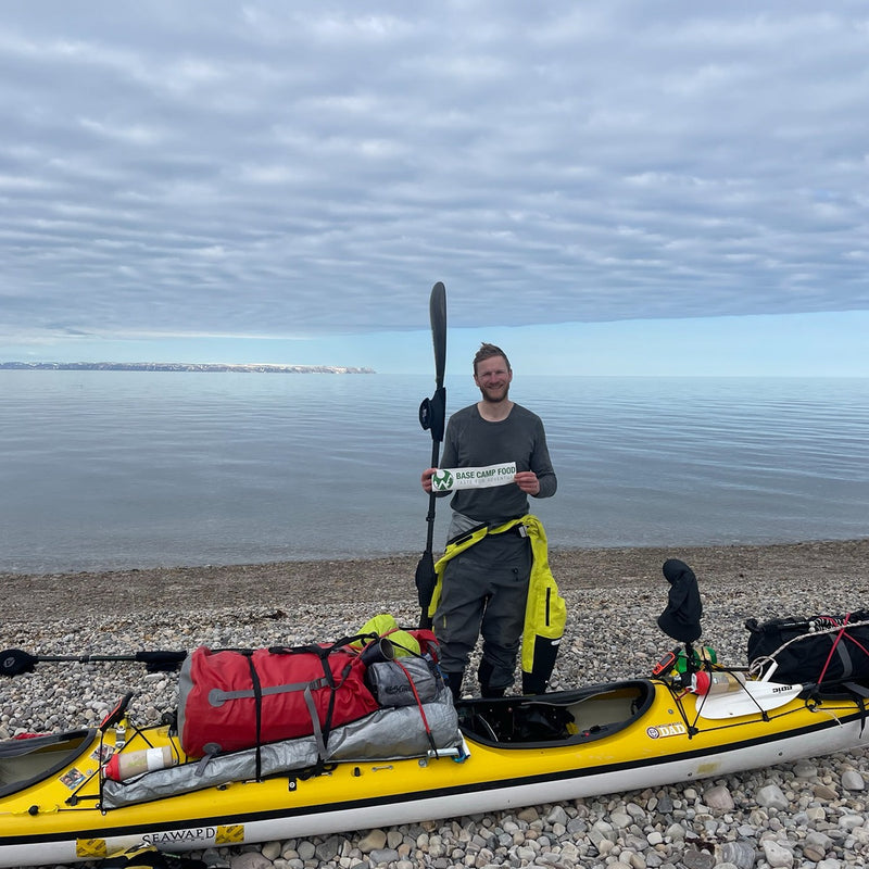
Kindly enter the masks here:
[[869, 376], [867, 215], [862, 0], [3, 4], [0, 361]]

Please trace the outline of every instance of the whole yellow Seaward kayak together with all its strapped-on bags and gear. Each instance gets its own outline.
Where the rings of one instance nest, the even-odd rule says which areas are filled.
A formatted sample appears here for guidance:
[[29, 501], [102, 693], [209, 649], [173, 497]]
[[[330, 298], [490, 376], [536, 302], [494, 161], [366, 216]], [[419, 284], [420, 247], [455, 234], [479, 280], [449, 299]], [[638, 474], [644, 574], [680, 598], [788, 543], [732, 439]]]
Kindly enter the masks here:
[[[331, 645], [74, 658], [4, 651], [2, 676], [71, 659], [181, 670], [177, 709], [159, 722], [139, 726], [129, 693], [99, 727], [0, 742], [0, 866], [461, 817], [866, 744], [869, 618], [753, 625], [751, 666], [727, 668], [693, 645], [702, 603], [691, 568], [668, 559], [664, 576], [658, 626], [680, 645], [650, 678], [529, 696], [454, 701], [434, 635], [387, 616]], [[300, 730], [305, 715], [311, 729]]]

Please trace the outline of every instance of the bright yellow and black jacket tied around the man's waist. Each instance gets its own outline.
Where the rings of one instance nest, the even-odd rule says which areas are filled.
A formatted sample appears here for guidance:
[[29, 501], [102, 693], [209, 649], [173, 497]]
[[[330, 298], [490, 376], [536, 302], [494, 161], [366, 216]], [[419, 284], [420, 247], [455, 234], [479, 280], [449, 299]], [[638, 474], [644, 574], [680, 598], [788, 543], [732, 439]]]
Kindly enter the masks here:
[[564, 597], [558, 594], [558, 587], [555, 584], [555, 578], [550, 569], [546, 532], [543, 529], [543, 522], [537, 516], [527, 514], [495, 528], [481, 525], [448, 543], [443, 556], [434, 565], [438, 580], [429, 603], [428, 615], [433, 617], [440, 603], [443, 571], [448, 562], [479, 543], [484, 537], [503, 534], [519, 525], [525, 526], [526, 534], [531, 541], [533, 558], [522, 630], [522, 693], [542, 694], [546, 690], [546, 683], [555, 666], [558, 644], [564, 635], [567, 621], [567, 607]]

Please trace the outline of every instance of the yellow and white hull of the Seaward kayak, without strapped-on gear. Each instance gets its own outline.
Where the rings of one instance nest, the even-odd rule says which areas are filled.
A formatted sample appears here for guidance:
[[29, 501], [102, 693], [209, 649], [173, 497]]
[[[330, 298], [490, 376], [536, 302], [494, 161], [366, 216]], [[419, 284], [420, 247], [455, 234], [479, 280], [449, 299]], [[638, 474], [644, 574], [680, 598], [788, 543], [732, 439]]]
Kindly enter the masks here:
[[[705, 718], [709, 698], [658, 680], [465, 701], [459, 757], [348, 761], [318, 774], [288, 771], [106, 810], [100, 769], [116, 728], [59, 734], [33, 757], [22, 754], [26, 740], [3, 743], [0, 866], [98, 859], [140, 843], [178, 852], [459, 817], [723, 776], [865, 743], [857, 700], [792, 694], [734, 718]], [[505, 741], [500, 725], [529, 704], [569, 709], [574, 732]], [[179, 752], [165, 726], [126, 736], [119, 753], [164, 744]]]

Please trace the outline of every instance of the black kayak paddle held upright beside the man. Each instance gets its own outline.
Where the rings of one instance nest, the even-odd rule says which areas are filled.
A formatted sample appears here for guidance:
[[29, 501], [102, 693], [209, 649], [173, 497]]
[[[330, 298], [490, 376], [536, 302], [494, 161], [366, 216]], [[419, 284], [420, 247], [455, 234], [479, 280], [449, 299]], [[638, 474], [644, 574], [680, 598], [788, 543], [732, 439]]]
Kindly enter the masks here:
[[[434, 394], [424, 399], [419, 405], [419, 423], [424, 429], [431, 431], [431, 467], [438, 467], [443, 428], [446, 421], [446, 389], [443, 386], [443, 373], [446, 368], [446, 289], [438, 281], [431, 288], [429, 299], [429, 314], [431, 317], [431, 339], [434, 343]], [[428, 615], [428, 605], [434, 592], [437, 576], [434, 575], [434, 558], [431, 554], [431, 544], [434, 539], [434, 504], [437, 496], [432, 490], [428, 499], [428, 533], [426, 534], [426, 551], [416, 566], [416, 591], [419, 599], [419, 627], [430, 628], [431, 618]]]

